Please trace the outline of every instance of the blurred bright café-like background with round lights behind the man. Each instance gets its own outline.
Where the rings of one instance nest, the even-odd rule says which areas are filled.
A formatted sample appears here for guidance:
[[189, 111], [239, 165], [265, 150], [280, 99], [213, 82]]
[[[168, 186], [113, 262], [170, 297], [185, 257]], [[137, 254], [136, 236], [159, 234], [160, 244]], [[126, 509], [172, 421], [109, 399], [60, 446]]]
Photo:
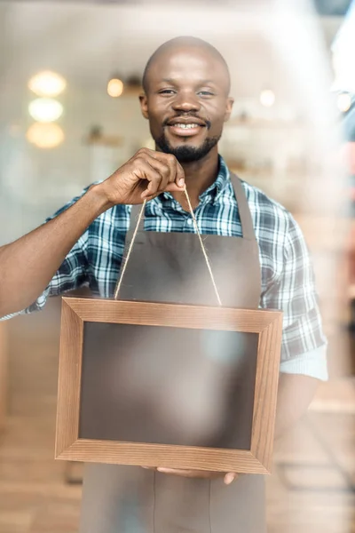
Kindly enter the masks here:
[[[329, 381], [275, 450], [269, 533], [355, 532], [354, 4], [0, 2], [0, 244], [154, 146], [140, 77], [179, 35], [230, 66], [220, 152], [303, 228], [329, 341]], [[0, 533], [78, 528], [82, 467], [53, 459], [59, 317], [52, 299], [0, 322]]]

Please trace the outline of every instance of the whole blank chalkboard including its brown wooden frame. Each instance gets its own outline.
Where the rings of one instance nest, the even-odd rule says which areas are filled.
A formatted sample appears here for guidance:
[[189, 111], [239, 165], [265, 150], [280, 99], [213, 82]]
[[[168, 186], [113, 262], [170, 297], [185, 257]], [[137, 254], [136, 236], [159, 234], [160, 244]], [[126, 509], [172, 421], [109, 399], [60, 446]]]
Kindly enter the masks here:
[[270, 473], [280, 311], [63, 298], [56, 457]]

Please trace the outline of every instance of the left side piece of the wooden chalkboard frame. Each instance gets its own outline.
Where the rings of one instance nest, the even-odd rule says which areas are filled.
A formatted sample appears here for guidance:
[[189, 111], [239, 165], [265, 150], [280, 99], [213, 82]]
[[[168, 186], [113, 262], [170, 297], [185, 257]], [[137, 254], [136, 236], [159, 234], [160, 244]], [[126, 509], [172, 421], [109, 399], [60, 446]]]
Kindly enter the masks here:
[[66, 301], [63, 301], [55, 457], [78, 438], [82, 354], [83, 321]]

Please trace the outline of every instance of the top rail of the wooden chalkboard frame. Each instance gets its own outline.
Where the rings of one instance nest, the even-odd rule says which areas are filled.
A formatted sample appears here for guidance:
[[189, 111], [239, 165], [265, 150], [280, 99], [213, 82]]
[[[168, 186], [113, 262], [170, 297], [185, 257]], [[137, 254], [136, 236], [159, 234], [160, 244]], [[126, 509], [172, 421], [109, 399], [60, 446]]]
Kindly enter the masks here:
[[63, 298], [63, 300], [84, 322], [259, 333], [280, 316], [280, 311], [260, 309], [185, 306], [94, 298]]

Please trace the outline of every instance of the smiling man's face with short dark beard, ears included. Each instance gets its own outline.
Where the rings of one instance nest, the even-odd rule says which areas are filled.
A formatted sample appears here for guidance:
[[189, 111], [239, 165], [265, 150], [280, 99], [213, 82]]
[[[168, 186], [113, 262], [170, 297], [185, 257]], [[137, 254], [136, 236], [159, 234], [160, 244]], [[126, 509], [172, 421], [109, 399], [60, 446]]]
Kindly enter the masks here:
[[217, 146], [233, 99], [223, 63], [203, 48], [162, 52], [149, 68], [140, 99], [156, 147], [180, 163], [199, 161]]

